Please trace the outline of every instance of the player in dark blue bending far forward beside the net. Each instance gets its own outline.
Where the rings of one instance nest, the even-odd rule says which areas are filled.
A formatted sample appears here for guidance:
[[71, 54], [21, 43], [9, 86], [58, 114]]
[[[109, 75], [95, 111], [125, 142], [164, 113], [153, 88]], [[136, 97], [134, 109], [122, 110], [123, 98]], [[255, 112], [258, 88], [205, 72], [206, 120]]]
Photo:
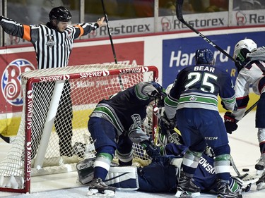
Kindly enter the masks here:
[[153, 159], [160, 156], [159, 149], [143, 132], [141, 124], [146, 118], [148, 104], [156, 101], [156, 105], [161, 106], [165, 96], [165, 89], [158, 82], [139, 82], [98, 103], [88, 120], [97, 153], [94, 178], [88, 183], [88, 196], [114, 195], [114, 187], [107, 186], [104, 181], [116, 150], [120, 166], [131, 166], [133, 142], [140, 144]]

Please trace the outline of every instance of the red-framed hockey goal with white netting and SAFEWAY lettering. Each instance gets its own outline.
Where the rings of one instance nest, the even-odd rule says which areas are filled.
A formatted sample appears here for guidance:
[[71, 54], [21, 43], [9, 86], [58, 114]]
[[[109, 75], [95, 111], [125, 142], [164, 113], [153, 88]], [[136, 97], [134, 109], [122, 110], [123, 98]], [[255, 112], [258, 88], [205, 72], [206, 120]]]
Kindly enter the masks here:
[[[95, 105], [138, 82], [157, 79], [155, 66], [119, 64], [23, 73], [23, 112], [16, 139], [0, 162], [0, 191], [30, 192], [33, 176], [76, 171], [76, 163], [95, 155], [87, 128]], [[152, 106], [148, 109], [153, 112]], [[149, 112], [143, 129], [151, 137], [154, 125]], [[150, 163], [139, 144], [134, 144], [134, 161]]]

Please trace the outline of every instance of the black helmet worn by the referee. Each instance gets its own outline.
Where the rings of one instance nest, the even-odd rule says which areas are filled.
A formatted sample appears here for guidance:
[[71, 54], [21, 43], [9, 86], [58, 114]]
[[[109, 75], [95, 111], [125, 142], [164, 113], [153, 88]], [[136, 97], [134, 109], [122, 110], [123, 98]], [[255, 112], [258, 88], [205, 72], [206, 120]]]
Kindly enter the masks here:
[[70, 11], [64, 6], [52, 8], [52, 11], [49, 12], [49, 20], [56, 19], [62, 22], [69, 22], [71, 18], [72, 16]]

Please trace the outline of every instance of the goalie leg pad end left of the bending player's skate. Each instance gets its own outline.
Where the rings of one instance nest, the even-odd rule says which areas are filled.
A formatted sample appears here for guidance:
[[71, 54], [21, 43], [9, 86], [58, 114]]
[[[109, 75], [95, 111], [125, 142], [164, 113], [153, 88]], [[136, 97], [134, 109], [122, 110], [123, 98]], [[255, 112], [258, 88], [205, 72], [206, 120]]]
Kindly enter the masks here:
[[84, 159], [76, 163], [76, 170], [78, 173], [78, 180], [81, 184], [87, 184], [94, 178], [94, 161], [95, 157]]

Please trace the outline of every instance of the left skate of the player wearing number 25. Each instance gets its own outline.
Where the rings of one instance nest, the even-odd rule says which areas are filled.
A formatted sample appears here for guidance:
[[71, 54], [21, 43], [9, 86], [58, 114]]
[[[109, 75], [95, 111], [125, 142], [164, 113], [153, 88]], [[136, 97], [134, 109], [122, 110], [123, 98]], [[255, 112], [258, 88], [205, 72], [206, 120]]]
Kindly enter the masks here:
[[183, 172], [180, 173], [175, 197], [199, 197], [201, 195], [200, 191], [201, 189], [192, 182], [192, 178], [187, 177]]

